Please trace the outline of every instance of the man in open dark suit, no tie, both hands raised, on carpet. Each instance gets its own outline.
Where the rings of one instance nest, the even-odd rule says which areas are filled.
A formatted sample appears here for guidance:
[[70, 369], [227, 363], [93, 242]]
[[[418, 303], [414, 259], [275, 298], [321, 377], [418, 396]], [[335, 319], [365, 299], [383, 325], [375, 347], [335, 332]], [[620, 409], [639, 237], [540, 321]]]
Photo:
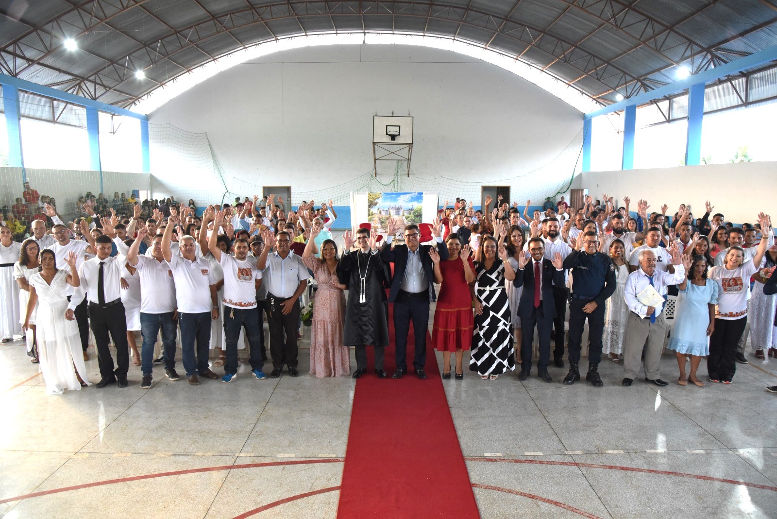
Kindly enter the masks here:
[[[429, 249], [442, 243], [441, 223], [434, 219], [433, 245], [420, 245], [418, 225], [405, 226], [406, 245], [391, 246], [394, 233], [399, 230], [393, 219], [389, 220], [389, 235], [382, 249], [386, 263], [394, 263], [394, 277], [389, 290], [389, 302], [394, 303], [394, 332], [396, 336], [396, 371], [392, 378], [402, 378], [407, 373], [407, 334], [410, 321], [416, 337], [416, 354], [413, 367], [421, 380], [427, 378], [423, 366], [427, 361], [427, 328], [429, 326], [429, 301], [434, 301], [434, 264]], [[448, 248], [439, 247], [440, 259], [448, 259]]]

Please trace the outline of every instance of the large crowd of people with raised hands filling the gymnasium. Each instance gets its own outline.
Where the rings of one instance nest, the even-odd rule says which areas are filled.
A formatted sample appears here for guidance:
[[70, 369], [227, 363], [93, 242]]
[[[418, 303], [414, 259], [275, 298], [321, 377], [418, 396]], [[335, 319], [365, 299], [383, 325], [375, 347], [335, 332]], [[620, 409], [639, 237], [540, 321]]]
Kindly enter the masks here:
[[[486, 196], [477, 210], [466, 200], [445, 201], [430, 224], [389, 218], [385, 235], [369, 227], [345, 232], [339, 249], [332, 200], [286, 211], [280, 197], [255, 196], [197, 211], [193, 200], [86, 193], [82, 216], [65, 223], [56, 200], [24, 187], [19, 200], [35, 211], [15, 205], [14, 220], [0, 224], [0, 334], [7, 342], [23, 333], [51, 393], [89, 385], [89, 329], [98, 388], [127, 386], [131, 358], [141, 368], [141, 388], [151, 387], [155, 364], [179, 380], [176, 344], [191, 385], [234, 381], [239, 350], [247, 350], [244, 361], [257, 379], [286, 370], [297, 377], [301, 298], [312, 284], [309, 371], [316, 377], [361, 378], [372, 347], [375, 374], [388, 378], [384, 348], [393, 326], [390, 376], [402, 378], [412, 323], [413, 373], [426, 379], [431, 303], [431, 341], [443, 354], [444, 379], [451, 371], [464, 378], [469, 350], [469, 371], [484, 380], [517, 371], [524, 381], [536, 364], [538, 378], [552, 382], [548, 368], [566, 367], [566, 352], [563, 383], [573, 385], [586, 327], [585, 379], [595, 387], [604, 385], [603, 356], [622, 364], [624, 386], [640, 369], [646, 381], [667, 385], [660, 376], [664, 347], [676, 352], [679, 385], [705, 385], [697, 374], [702, 357], [709, 381], [730, 384], [737, 363], [748, 362], [748, 326], [754, 357], [777, 357], [777, 246], [765, 213], [754, 225], [734, 226], [709, 202], [694, 218], [685, 205], [667, 214], [666, 205], [649, 212], [639, 200], [632, 217], [628, 197], [615, 207], [605, 194], [586, 196], [577, 208], [564, 197], [545, 200], [529, 214], [531, 200], [521, 213], [517, 202], [499, 196], [492, 207]], [[26, 222], [22, 232], [16, 221]]]

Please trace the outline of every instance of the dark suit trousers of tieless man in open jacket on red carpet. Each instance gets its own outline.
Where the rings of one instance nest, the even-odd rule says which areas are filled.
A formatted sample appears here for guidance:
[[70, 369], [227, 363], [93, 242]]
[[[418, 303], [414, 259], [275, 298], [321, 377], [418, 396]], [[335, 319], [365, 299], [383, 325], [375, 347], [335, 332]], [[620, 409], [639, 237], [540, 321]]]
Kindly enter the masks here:
[[394, 332], [396, 335], [396, 368], [407, 371], [407, 334], [413, 321], [416, 353], [413, 367], [423, 369], [427, 363], [427, 333], [429, 328], [429, 292], [408, 294], [399, 291], [394, 301]]

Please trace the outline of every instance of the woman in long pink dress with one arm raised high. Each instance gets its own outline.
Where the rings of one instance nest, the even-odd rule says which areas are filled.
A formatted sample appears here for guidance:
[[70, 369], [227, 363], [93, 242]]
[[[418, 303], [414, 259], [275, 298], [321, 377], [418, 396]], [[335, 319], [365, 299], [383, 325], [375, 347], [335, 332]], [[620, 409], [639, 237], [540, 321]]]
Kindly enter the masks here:
[[310, 374], [316, 377], [339, 377], [350, 374], [350, 349], [343, 346], [343, 320], [347, 285], [337, 279], [337, 246], [333, 240], [321, 243], [321, 258], [317, 252], [315, 237], [322, 225], [316, 224], [302, 253], [302, 263], [313, 271], [316, 283], [313, 304], [313, 326], [310, 337]]

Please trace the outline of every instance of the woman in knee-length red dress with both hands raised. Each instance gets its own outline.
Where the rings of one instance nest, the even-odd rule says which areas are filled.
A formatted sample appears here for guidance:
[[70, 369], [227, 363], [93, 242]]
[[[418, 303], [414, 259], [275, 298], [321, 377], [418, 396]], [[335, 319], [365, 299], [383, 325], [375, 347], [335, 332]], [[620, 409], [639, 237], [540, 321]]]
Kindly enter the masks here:
[[[472, 291], [469, 284], [475, 281], [469, 246], [462, 247], [457, 234], [445, 239], [448, 259], [441, 261], [436, 249], [430, 250], [434, 262], [434, 282], [441, 283], [434, 310], [432, 344], [443, 352], [442, 378], [451, 378], [451, 352], [456, 355], [456, 380], [464, 378], [462, 357], [472, 344]], [[445, 368], [448, 371], [445, 372]]]

